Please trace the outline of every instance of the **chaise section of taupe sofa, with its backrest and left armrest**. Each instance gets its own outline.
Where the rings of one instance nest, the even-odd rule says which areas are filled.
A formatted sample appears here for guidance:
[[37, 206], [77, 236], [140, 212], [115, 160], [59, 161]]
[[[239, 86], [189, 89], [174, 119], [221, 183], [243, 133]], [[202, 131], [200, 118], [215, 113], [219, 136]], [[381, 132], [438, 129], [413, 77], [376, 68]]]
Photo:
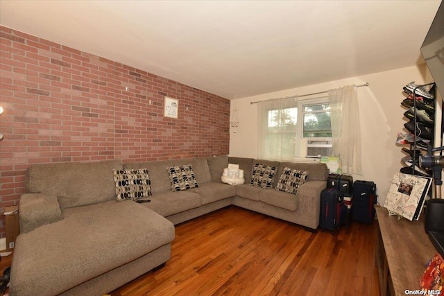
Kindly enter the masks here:
[[10, 295], [103, 295], [168, 261], [174, 227], [117, 202], [119, 160], [39, 164], [26, 172]]

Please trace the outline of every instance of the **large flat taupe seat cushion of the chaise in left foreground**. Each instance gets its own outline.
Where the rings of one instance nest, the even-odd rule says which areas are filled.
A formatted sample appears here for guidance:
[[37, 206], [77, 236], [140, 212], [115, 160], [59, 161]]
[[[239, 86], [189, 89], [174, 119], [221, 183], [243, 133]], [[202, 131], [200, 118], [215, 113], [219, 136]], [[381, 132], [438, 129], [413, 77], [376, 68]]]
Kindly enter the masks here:
[[66, 209], [63, 220], [17, 237], [15, 295], [59, 295], [173, 239], [169, 220], [132, 200]]

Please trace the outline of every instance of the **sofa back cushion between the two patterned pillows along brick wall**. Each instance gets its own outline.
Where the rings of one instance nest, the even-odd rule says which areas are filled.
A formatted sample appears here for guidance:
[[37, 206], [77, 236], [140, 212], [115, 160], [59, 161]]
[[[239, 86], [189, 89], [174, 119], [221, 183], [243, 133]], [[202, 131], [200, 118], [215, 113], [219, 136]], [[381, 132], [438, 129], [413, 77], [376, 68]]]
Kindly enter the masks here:
[[174, 166], [172, 160], [159, 160], [153, 162], [128, 162], [123, 168], [148, 168], [151, 180], [151, 193], [171, 191], [171, 180], [169, 180], [168, 168]]

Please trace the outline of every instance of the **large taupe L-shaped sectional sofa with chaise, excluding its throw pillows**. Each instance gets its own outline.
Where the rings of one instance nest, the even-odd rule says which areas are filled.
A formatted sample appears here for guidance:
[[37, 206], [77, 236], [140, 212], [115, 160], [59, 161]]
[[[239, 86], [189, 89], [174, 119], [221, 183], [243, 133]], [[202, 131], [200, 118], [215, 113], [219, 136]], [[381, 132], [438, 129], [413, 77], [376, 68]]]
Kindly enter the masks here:
[[[246, 184], [221, 182], [228, 163], [239, 164]], [[198, 187], [172, 191], [167, 168], [186, 164], [191, 164]], [[249, 184], [255, 164], [276, 169], [271, 189]], [[275, 190], [285, 167], [308, 172], [296, 195]], [[117, 201], [113, 169], [138, 168], [149, 171], [151, 202]], [[325, 164], [226, 155], [32, 165], [19, 202], [21, 234], [12, 259], [10, 295], [108, 293], [170, 259], [173, 225], [230, 204], [316, 229], [327, 175]]]

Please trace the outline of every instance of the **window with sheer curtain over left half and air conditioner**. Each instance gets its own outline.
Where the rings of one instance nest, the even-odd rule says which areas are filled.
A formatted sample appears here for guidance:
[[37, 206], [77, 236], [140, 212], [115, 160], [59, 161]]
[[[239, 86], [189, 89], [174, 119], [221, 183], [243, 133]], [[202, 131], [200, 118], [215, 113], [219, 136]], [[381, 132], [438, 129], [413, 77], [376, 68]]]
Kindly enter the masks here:
[[331, 155], [332, 125], [327, 98], [278, 100], [259, 106], [259, 157], [294, 160]]

